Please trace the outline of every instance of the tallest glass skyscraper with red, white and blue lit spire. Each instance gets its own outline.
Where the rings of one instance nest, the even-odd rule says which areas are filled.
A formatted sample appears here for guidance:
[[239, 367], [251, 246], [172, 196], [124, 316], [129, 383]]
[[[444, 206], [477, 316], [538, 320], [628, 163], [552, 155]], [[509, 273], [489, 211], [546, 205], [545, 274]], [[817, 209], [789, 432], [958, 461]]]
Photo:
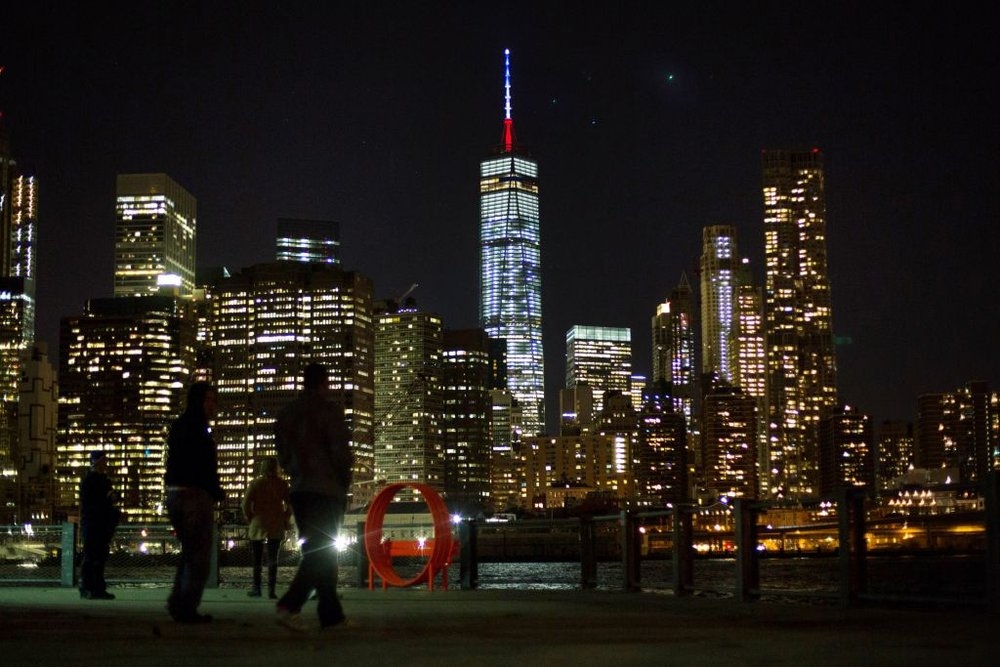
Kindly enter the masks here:
[[538, 163], [514, 138], [505, 51], [503, 142], [479, 165], [479, 323], [507, 344], [507, 387], [526, 433], [545, 428]]

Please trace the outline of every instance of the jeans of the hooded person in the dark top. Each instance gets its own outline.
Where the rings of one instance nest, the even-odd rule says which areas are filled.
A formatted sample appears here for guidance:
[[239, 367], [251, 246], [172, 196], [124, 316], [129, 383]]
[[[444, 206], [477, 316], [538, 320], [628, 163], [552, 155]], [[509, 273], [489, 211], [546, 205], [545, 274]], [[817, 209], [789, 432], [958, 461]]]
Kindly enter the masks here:
[[197, 613], [212, 561], [215, 501], [203, 489], [187, 487], [167, 493], [167, 512], [181, 543], [174, 588], [167, 599], [171, 616]]

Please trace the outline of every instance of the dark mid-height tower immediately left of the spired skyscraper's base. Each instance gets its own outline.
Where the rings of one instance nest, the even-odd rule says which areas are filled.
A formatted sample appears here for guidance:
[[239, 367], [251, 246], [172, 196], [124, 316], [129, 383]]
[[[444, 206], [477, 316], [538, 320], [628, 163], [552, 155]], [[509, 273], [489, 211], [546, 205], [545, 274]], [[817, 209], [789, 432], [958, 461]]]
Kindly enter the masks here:
[[490, 503], [490, 345], [482, 329], [445, 330], [441, 355], [444, 490], [469, 509]]

